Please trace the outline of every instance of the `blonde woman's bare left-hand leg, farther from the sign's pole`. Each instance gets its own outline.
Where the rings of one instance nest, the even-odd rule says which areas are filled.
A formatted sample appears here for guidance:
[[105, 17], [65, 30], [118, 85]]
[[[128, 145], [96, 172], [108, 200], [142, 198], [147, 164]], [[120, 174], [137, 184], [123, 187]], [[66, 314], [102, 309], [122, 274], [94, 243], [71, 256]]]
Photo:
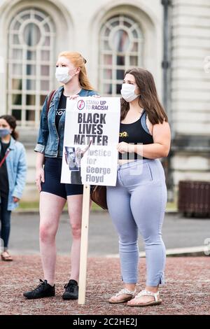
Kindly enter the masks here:
[[56, 245], [59, 216], [66, 200], [51, 193], [40, 193], [39, 242], [44, 279], [53, 286], [55, 281]]

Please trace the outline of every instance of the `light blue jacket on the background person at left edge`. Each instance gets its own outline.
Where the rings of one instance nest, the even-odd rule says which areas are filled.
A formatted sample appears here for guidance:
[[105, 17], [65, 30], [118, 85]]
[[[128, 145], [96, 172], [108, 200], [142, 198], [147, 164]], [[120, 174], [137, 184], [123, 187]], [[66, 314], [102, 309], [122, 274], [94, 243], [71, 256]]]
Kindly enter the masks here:
[[8, 156], [6, 158], [6, 168], [8, 172], [9, 186], [7, 210], [13, 210], [18, 207], [18, 202], [13, 202], [13, 197], [18, 197], [18, 199], [20, 199], [22, 197], [22, 192], [25, 187], [27, 162], [25, 147], [19, 141], [15, 141], [13, 137], [11, 137], [9, 148], [10, 153], [8, 153]]

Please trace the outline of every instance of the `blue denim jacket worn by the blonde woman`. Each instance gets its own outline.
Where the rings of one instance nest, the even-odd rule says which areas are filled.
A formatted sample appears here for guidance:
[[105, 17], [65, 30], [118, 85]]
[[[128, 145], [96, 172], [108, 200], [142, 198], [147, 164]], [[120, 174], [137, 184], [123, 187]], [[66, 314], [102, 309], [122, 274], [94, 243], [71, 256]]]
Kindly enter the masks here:
[[[38, 140], [34, 151], [43, 153], [48, 158], [62, 158], [63, 144], [64, 144], [64, 125], [65, 113], [59, 120], [58, 131], [55, 126], [55, 113], [59, 106], [59, 99], [62, 95], [64, 87], [59, 87], [55, 96], [53, 97], [50, 108], [47, 113], [46, 106], [48, 104], [48, 97], [46, 97], [41, 111], [41, 122], [38, 132]], [[79, 92], [80, 97], [93, 96], [97, 94], [94, 90], [82, 89]]]

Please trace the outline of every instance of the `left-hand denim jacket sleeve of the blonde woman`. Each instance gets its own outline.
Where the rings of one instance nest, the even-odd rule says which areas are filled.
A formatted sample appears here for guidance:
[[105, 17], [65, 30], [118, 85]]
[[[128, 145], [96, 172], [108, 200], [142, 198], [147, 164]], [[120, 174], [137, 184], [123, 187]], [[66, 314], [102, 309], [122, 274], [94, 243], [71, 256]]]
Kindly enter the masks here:
[[38, 131], [38, 139], [36, 147], [34, 148], [34, 151], [44, 153], [45, 152], [45, 146], [48, 141], [48, 113], [47, 113], [47, 104], [48, 104], [48, 97], [45, 98], [45, 102], [43, 104], [42, 110], [41, 110], [41, 120], [40, 120], [40, 126]]

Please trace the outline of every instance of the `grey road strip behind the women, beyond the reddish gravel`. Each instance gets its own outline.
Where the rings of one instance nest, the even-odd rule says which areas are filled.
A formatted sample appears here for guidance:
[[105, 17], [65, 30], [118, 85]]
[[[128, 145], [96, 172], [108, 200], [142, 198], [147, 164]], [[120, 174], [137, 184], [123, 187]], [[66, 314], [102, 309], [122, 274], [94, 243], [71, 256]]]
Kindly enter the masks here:
[[[13, 254], [38, 254], [38, 214], [13, 214], [10, 251]], [[167, 249], [203, 246], [205, 239], [210, 243], [210, 218], [181, 218], [177, 214], [166, 214], [163, 225], [163, 239]], [[71, 230], [67, 214], [63, 214], [57, 233], [59, 254], [69, 255]], [[140, 251], [144, 251], [142, 240]], [[89, 230], [89, 255], [103, 256], [118, 253], [118, 237], [111, 218], [105, 212], [92, 213]]]

